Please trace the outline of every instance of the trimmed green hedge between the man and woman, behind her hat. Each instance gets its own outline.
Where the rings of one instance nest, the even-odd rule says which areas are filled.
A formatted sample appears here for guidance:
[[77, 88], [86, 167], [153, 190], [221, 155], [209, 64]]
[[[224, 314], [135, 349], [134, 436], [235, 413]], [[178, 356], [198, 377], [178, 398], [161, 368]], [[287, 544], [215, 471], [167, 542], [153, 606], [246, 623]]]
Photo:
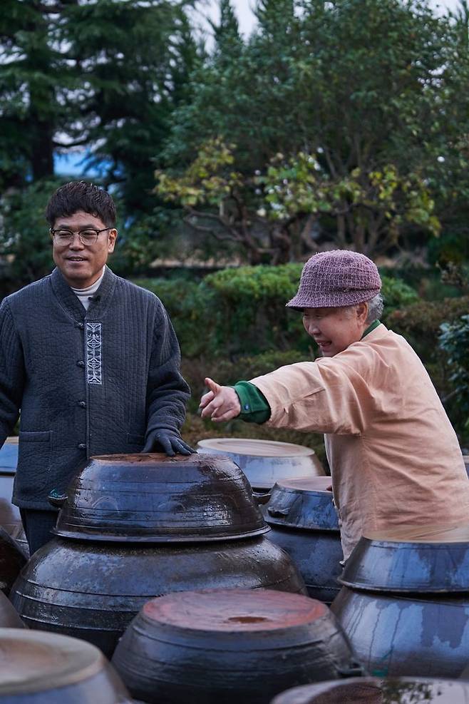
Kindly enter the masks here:
[[[286, 303], [295, 295], [301, 264], [239, 267], [207, 275], [202, 281], [141, 279], [167, 307], [184, 357], [237, 357], [297, 350], [314, 358], [301, 313]], [[383, 277], [385, 319], [418, 300], [404, 282]]]

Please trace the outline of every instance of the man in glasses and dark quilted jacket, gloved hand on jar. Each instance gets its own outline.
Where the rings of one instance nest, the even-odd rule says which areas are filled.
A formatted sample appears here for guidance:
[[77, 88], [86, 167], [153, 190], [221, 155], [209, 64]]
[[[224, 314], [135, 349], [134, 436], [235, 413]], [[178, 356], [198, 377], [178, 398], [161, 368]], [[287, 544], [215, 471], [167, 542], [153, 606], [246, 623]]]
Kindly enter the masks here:
[[91, 455], [190, 454], [180, 437], [189, 388], [160, 300], [106, 262], [117, 230], [105, 190], [85, 181], [48, 203], [51, 275], [0, 307], [0, 447], [21, 409], [13, 501], [31, 553], [48, 541], [66, 488]]

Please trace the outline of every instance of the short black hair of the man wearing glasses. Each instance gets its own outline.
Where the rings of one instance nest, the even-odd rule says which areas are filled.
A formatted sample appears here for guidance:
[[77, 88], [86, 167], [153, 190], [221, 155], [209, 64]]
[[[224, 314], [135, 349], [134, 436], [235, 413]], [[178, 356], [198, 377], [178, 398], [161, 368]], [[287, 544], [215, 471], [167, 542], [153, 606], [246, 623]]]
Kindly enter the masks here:
[[58, 218], [70, 218], [83, 210], [100, 218], [107, 228], [115, 226], [115, 205], [109, 193], [94, 183], [70, 181], [51, 196], [46, 208], [46, 219], [51, 228]]

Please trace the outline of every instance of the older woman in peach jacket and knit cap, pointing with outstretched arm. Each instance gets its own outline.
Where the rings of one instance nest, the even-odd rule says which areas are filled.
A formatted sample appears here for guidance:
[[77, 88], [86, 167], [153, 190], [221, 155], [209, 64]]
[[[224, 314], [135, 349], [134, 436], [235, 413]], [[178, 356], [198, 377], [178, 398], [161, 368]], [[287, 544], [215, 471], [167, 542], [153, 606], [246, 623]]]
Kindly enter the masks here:
[[469, 519], [469, 481], [453, 427], [420, 359], [379, 322], [381, 279], [368, 257], [334, 250], [306, 262], [297, 295], [322, 357], [220, 387], [202, 417], [239, 416], [325, 433], [344, 559], [360, 536]]

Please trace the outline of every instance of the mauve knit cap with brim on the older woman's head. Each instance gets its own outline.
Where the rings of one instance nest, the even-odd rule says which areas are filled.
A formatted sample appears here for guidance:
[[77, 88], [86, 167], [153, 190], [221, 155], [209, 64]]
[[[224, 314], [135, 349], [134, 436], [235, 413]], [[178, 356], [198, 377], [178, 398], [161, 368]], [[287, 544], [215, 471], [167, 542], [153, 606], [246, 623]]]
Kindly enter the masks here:
[[364, 254], [349, 250], [319, 252], [303, 267], [297, 295], [287, 307], [339, 307], [368, 301], [381, 290], [376, 265]]

